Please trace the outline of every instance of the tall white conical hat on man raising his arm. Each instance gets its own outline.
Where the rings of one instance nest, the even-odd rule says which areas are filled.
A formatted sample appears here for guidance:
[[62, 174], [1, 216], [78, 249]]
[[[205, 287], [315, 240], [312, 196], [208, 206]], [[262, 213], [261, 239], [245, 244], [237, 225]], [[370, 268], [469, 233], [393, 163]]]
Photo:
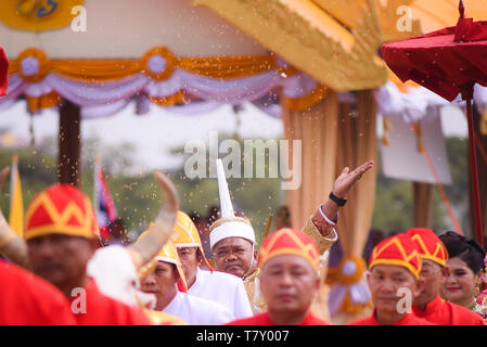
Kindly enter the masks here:
[[209, 246], [213, 247], [227, 237], [242, 237], [255, 244], [255, 232], [246, 218], [235, 217], [232, 200], [225, 177], [223, 163], [217, 159], [218, 194], [220, 197], [221, 219], [210, 227]]

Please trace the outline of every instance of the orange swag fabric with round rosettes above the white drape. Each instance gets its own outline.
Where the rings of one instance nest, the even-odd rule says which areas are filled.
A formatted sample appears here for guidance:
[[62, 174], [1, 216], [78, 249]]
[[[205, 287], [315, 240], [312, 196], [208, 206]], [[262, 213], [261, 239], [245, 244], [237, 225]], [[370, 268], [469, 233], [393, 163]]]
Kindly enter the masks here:
[[[151, 72], [148, 68], [149, 60], [155, 55], [161, 55], [166, 63], [165, 68], [159, 73]], [[23, 74], [21, 64], [27, 57], [35, 57], [39, 63], [37, 74]], [[278, 64], [274, 54], [177, 57], [167, 48], [157, 47], [149, 50], [141, 59], [129, 60], [50, 60], [42, 50], [28, 48], [17, 59], [11, 60], [9, 74], [18, 74], [28, 82], [39, 82], [48, 74], [54, 73], [73, 80], [103, 83], [140, 73], [144, 73], [155, 80], [165, 80], [170, 78], [176, 67], [192, 74], [223, 80], [245, 78], [272, 69], [278, 74], [285, 74], [286, 76], [299, 73], [293, 66], [283, 67]], [[320, 85], [309, 94], [302, 98], [283, 98], [289, 110], [304, 111], [323, 100], [326, 93], [328, 88]], [[183, 90], [179, 90], [169, 97], [151, 97], [150, 99], [159, 106], [187, 104], [190, 100]], [[31, 113], [52, 107], [60, 102], [61, 97], [55, 91], [38, 98], [27, 97], [28, 110]]]

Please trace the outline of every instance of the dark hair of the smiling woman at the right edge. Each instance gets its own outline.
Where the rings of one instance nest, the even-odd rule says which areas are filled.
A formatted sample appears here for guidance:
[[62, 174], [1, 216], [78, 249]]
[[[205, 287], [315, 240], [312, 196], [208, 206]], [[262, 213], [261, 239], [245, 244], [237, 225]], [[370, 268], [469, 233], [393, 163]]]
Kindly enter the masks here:
[[447, 231], [439, 235], [439, 240], [447, 248], [450, 258], [460, 257], [475, 274], [484, 269], [486, 252], [475, 240], [469, 240], [454, 231]]

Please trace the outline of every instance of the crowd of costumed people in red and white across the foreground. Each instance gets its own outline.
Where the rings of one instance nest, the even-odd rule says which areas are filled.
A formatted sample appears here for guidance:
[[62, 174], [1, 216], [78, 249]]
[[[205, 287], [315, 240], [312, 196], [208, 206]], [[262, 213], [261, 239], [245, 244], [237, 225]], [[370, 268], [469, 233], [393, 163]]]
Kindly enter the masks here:
[[[26, 210], [24, 239], [0, 214], [0, 324], [328, 325], [312, 310], [321, 255], [338, 239], [347, 192], [372, 166], [345, 168], [302, 230], [282, 208], [261, 245], [236, 216], [219, 160], [220, 216], [204, 219], [208, 230], [179, 209], [159, 175], [161, 211], [129, 245], [116, 242], [125, 240], [119, 221], [114, 240], [101, 241], [80, 190], [49, 187]], [[414, 228], [382, 240], [368, 259], [373, 312], [349, 324], [485, 325], [485, 259], [476, 241], [456, 232]]]

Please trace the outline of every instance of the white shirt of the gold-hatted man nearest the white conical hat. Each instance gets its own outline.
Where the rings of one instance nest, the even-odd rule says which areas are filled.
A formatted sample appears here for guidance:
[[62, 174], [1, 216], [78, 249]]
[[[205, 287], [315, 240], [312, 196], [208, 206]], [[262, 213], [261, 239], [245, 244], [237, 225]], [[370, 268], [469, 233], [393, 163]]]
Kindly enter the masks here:
[[197, 269], [196, 280], [188, 294], [223, 305], [235, 319], [253, 316], [243, 281], [233, 274]]

